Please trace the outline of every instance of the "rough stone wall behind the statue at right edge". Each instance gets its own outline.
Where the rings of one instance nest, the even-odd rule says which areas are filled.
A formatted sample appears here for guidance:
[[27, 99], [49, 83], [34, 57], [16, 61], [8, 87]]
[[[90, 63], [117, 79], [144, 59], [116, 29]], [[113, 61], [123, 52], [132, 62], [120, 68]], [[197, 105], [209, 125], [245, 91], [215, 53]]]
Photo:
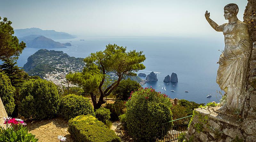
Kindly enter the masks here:
[[243, 111], [244, 119], [256, 119], [256, 1], [248, 0], [244, 11], [244, 22], [248, 24], [252, 37], [252, 54], [247, 70], [246, 98]]

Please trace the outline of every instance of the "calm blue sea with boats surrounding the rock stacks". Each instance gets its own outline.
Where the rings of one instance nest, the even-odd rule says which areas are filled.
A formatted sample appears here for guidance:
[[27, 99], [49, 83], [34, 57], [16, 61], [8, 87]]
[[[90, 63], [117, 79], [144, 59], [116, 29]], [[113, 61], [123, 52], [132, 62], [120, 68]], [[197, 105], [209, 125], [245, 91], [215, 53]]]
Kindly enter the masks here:
[[[84, 39], [85, 41], [80, 41]], [[171, 98], [187, 99], [196, 103], [219, 102], [220, 91], [216, 83], [216, 74], [220, 51], [224, 48], [222, 38], [177, 38], [177, 37], [87, 37], [59, 40], [69, 41], [67, 48], [51, 48], [48, 50], [64, 51], [70, 56], [84, 58], [91, 52], [104, 50], [108, 43], [126, 46], [127, 50], [143, 51], [146, 69], [138, 73], [149, 74], [158, 72], [155, 83], [147, 83], [143, 87], [152, 86], [156, 91], [166, 93]], [[18, 66], [23, 67], [27, 58], [39, 49], [25, 48], [18, 60]], [[178, 75], [178, 83], [164, 83], [164, 77], [172, 72]], [[143, 78], [145, 79], [145, 78]], [[175, 85], [175, 86], [172, 86]], [[163, 88], [163, 89], [162, 89]], [[165, 90], [164, 90], [165, 88]], [[171, 92], [174, 90], [176, 92]], [[189, 91], [188, 93], [185, 91]], [[211, 94], [211, 98], [206, 98]]]

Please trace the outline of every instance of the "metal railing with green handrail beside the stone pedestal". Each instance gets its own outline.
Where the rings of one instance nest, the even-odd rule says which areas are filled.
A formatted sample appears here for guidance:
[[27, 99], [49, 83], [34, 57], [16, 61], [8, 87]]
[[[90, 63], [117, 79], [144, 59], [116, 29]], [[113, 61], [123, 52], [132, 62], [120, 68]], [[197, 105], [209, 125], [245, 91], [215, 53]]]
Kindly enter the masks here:
[[192, 115], [163, 123], [162, 142], [178, 142], [178, 137], [188, 130]]

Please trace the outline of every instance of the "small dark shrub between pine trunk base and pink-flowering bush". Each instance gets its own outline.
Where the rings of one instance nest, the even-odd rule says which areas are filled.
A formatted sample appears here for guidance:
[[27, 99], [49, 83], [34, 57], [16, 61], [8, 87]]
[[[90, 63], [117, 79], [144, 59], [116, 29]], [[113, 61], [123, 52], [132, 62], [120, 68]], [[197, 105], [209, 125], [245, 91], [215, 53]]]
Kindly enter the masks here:
[[123, 101], [115, 101], [114, 104], [107, 104], [105, 106], [105, 108], [108, 108], [111, 112], [110, 114], [110, 119], [112, 121], [116, 121], [118, 120], [118, 116], [121, 115], [121, 114], [124, 114], [124, 108], [125, 108], [125, 105], [124, 105], [124, 102]]

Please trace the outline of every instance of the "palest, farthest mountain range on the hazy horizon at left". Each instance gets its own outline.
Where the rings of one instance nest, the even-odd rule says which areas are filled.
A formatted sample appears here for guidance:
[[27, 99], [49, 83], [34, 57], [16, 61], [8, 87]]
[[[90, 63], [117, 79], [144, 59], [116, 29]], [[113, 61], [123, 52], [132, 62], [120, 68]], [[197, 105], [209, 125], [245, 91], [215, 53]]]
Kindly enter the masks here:
[[24, 37], [24, 36], [30, 36], [30, 35], [43, 35], [51, 39], [76, 38], [75, 35], [70, 35], [65, 32], [56, 32], [55, 30], [42, 30], [40, 28], [15, 29], [14, 35], [17, 37]]

